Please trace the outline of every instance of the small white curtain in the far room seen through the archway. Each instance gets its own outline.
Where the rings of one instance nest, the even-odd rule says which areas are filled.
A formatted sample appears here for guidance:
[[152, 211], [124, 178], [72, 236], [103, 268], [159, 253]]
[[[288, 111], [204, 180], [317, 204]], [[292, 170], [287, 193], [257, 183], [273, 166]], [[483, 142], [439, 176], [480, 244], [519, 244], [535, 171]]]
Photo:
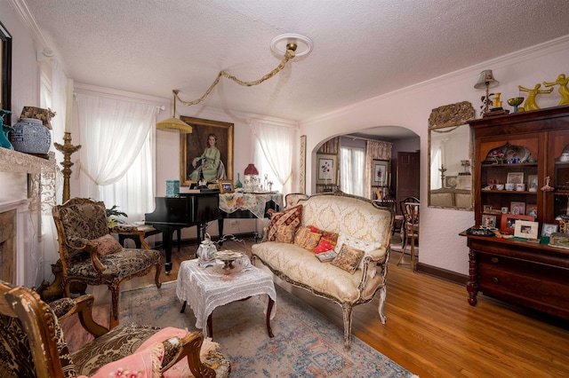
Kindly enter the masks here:
[[344, 193], [363, 196], [365, 188], [365, 151], [363, 148], [340, 148], [340, 189]]

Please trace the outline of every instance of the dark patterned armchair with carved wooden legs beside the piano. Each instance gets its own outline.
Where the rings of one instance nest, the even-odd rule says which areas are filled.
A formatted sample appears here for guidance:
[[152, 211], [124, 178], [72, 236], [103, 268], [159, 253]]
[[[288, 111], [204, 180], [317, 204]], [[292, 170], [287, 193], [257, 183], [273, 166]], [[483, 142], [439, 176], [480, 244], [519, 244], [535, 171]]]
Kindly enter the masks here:
[[[118, 325], [119, 286], [156, 268], [160, 287], [160, 253], [152, 249], [123, 248], [108, 230], [107, 211], [101, 201], [73, 198], [52, 208], [60, 248], [61, 287], [70, 296], [74, 282], [107, 285], [111, 291], [110, 327]], [[142, 245], [148, 244], [141, 240]]]

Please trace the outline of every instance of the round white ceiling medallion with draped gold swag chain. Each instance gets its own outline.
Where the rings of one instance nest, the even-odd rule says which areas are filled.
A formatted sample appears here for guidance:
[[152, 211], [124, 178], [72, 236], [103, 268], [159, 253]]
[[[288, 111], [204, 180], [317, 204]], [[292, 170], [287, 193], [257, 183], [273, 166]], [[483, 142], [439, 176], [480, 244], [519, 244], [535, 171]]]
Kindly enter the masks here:
[[[220, 73], [213, 81], [212, 85], [210, 85], [207, 91], [205, 91], [204, 96], [202, 96], [201, 98], [197, 98], [194, 101], [184, 101], [183, 99], [180, 98], [180, 96], [178, 96], [178, 91], [174, 91], [174, 101], [175, 98], [178, 98], [178, 100], [182, 104], [188, 106], [197, 105], [200, 102], [203, 102], [204, 99], [207, 98], [207, 96], [212, 92], [213, 88], [218, 83], [220, 83], [221, 76], [225, 76], [226, 78], [233, 80], [235, 83], [243, 85], [245, 87], [252, 87], [253, 85], [259, 85], [260, 83], [263, 83], [265, 80], [268, 80], [274, 75], [281, 72], [289, 60], [293, 59], [294, 57], [300, 57], [302, 55], [308, 54], [310, 51], [312, 51], [312, 46], [313, 46], [312, 41], [309, 39], [308, 36], [300, 34], [278, 35], [272, 39], [270, 43], [270, 49], [278, 55], [284, 55], [284, 58], [283, 60], [281, 60], [280, 64], [271, 72], [269, 72], [267, 75], [262, 76], [259, 80], [255, 80], [252, 82], [244, 82], [242, 80], [237, 79], [234, 75], [230, 75], [225, 71], [220, 71]], [[299, 47], [301, 47], [301, 51], [296, 52]]]

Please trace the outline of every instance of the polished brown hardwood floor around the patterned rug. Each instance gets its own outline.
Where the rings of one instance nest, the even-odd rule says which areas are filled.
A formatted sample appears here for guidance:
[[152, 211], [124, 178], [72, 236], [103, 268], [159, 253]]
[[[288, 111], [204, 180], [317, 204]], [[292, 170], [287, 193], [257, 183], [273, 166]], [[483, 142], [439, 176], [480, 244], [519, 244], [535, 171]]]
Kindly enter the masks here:
[[[222, 248], [250, 252], [253, 243], [226, 241]], [[176, 280], [180, 262], [195, 252], [186, 246], [172, 253], [173, 269], [163, 282]], [[397, 266], [398, 257], [390, 257], [387, 323], [381, 324], [374, 299], [354, 309], [353, 335], [421, 378], [569, 376], [568, 321], [485, 295], [470, 306], [465, 287]], [[343, 327], [338, 304], [275, 281]], [[152, 282], [150, 274], [132, 284]]]

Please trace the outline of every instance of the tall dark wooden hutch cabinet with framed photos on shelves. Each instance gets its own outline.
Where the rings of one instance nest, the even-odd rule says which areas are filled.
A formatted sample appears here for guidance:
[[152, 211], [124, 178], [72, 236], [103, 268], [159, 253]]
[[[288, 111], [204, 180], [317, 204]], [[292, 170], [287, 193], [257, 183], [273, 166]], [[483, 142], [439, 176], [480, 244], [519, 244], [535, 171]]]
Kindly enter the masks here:
[[[477, 225], [509, 228], [512, 217], [529, 216], [540, 224], [539, 237], [544, 223], [558, 224], [557, 217], [569, 214], [569, 155], [562, 156], [569, 152], [569, 106], [486, 117], [470, 125], [476, 143]], [[552, 191], [541, 190], [547, 177]], [[506, 190], [500, 185], [508, 180], [525, 187]], [[502, 214], [502, 208], [509, 213]], [[471, 305], [481, 291], [569, 319], [569, 249], [550, 247], [548, 237], [530, 242], [467, 236]]]

